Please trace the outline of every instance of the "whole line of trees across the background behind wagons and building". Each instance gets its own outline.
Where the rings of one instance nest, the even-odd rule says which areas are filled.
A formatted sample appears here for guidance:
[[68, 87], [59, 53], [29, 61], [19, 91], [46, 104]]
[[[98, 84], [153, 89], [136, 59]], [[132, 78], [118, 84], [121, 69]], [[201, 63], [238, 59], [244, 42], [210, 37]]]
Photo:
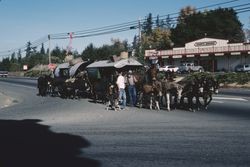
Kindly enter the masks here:
[[[231, 8], [218, 8], [209, 11], [196, 11], [194, 7], [187, 6], [180, 10], [177, 18], [165, 19], [159, 16], [154, 18], [149, 13], [141, 27], [141, 35], [135, 35], [132, 44], [120, 39], [111, 39], [110, 45], [95, 47], [90, 43], [81, 53], [74, 51], [71, 53], [75, 58], [81, 57], [83, 60], [104, 60], [112, 55], [119, 55], [120, 52], [127, 51], [143, 62], [144, 52], [147, 49], [171, 49], [173, 47], [183, 47], [185, 43], [203, 37], [227, 39], [229, 42], [244, 42], [249, 38], [245, 36], [243, 25], [239, 21], [237, 13]], [[249, 30], [246, 30], [249, 33]], [[0, 62], [0, 67], [8, 71], [22, 70], [22, 66], [27, 64], [29, 68], [37, 64], [48, 64], [49, 50], [45, 51], [42, 44], [40, 50], [32, 47], [30, 42], [26, 45], [26, 54], [21, 56], [21, 51], [13, 53], [10, 57], [4, 58]], [[66, 49], [58, 46], [51, 51], [52, 63], [62, 63], [67, 55]]]

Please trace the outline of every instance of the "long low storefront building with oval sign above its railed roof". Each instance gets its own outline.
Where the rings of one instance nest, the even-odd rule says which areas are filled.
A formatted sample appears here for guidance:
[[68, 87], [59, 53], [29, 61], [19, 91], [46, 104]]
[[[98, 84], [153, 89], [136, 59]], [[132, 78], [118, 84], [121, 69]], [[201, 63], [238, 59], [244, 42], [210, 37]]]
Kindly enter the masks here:
[[228, 40], [202, 38], [171, 50], [146, 50], [145, 59], [160, 65], [193, 62], [206, 71], [234, 71], [238, 64], [250, 64], [250, 43], [229, 43]]

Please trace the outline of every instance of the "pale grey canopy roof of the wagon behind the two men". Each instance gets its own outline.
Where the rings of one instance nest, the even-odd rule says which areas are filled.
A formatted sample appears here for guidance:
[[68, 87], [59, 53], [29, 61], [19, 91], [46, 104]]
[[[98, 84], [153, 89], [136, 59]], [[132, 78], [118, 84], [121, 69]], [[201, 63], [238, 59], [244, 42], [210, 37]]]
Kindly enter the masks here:
[[125, 66], [130, 67], [141, 67], [142, 64], [133, 58], [121, 59], [116, 62], [112, 62], [110, 60], [101, 60], [94, 62], [87, 66], [87, 68], [104, 68], [104, 67], [114, 67], [114, 68], [123, 68]]

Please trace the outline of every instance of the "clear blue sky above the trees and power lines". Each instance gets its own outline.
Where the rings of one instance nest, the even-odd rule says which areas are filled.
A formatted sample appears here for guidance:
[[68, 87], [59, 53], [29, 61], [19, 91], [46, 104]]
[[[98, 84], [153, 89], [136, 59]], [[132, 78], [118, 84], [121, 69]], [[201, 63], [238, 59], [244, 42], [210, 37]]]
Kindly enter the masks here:
[[[48, 34], [82, 31], [179, 12], [191, 5], [196, 8], [230, 0], [0, 0], [0, 58], [6, 51], [23, 47]], [[249, 3], [238, 0], [221, 7]], [[212, 7], [208, 9], [215, 9]], [[250, 12], [238, 14], [244, 28], [250, 29]], [[72, 50], [81, 53], [90, 43], [100, 47], [111, 38], [132, 43], [138, 29], [126, 32], [73, 38]], [[48, 48], [48, 42], [44, 44]], [[51, 40], [51, 48], [67, 48], [69, 39]], [[10, 53], [11, 54], [11, 53]]]

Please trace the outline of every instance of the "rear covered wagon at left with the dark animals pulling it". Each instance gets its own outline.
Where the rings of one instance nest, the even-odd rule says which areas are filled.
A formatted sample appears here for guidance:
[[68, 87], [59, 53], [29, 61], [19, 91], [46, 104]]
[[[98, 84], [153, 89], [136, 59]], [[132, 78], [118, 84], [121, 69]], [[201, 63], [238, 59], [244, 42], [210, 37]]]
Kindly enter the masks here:
[[90, 62], [84, 61], [59, 64], [52, 75], [38, 78], [39, 94], [44, 96], [49, 93], [63, 98], [82, 96], [89, 89], [89, 84], [85, 80], [85, 68], [89, 64]]

